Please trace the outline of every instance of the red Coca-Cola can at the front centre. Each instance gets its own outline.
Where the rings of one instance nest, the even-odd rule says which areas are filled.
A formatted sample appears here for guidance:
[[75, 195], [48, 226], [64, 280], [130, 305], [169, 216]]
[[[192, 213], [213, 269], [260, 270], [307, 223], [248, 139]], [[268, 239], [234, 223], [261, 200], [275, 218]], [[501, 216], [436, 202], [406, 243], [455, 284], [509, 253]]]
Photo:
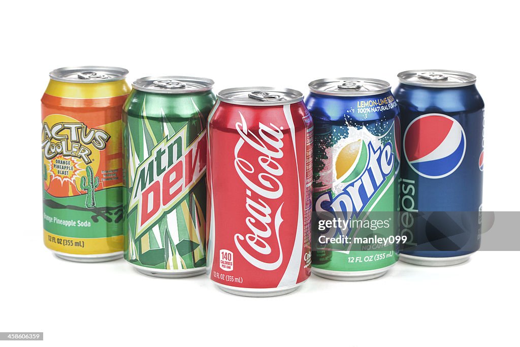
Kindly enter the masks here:
[[225, 89], [209, 120], [211, 279], [269, 297], [310, 276], [313, 121], [293, 89]]

